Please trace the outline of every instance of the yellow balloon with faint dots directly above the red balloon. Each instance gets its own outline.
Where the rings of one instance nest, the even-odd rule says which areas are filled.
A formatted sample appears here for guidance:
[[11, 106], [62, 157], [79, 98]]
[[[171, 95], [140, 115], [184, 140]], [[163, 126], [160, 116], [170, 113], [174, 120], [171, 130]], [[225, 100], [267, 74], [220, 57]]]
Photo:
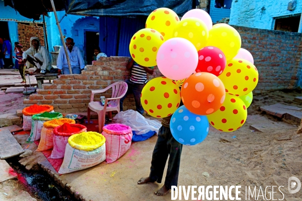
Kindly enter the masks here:
[[230, 25], [219, 23], [209, 30], [206, 46], [219, 48], [225, 55], [226, 61], [233, 59], [241, 47], [241, 37], [236, 29]]

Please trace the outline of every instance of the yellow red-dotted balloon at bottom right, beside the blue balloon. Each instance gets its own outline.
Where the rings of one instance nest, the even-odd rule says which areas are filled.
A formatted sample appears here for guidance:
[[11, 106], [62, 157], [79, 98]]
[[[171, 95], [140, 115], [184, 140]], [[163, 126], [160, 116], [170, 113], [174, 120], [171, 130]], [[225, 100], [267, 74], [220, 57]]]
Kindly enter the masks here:
[[243, 126], [247, 116], [247, 108], [242, 99], [236, 95], [226, 94], [220, 109], [206, 117], [215, 129], [233, 132]]

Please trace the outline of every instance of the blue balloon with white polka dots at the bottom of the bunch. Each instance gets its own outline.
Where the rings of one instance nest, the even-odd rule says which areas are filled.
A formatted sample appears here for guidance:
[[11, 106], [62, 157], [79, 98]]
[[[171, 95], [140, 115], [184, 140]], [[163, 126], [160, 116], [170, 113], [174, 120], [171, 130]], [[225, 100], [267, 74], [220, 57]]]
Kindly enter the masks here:
[[170, 130], [179, 143], [196, 145], [206, 138], [209, 132], [209, 121], [206, 116], [195, 115], [185, 106], [181, 106], [172, 115]]

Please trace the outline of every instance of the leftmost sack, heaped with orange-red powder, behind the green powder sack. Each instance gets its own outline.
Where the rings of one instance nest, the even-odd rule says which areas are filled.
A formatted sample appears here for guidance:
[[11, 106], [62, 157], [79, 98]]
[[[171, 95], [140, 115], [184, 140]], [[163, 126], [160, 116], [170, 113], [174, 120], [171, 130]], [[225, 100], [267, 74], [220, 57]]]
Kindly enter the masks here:
[[32, 116], [41, 114], [44, 112], [54, 112], [53, 107], [49, 105], [32, 105], [30, 107], [24, 108], [23, 113], [23, 130], [30, 131], [32, 126]]

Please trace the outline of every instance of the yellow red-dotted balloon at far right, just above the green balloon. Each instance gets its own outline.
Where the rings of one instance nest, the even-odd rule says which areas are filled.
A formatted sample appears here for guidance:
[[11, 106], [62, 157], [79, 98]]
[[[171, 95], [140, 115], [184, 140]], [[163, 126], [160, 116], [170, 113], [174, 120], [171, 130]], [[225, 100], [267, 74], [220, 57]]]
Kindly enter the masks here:
[[232, 59], [226, 62], [225, 69], [218, 76], [223, 82], [225, 92], [242, 96], [250, 93], [258, 83], [258, 70], [245, 59]]

